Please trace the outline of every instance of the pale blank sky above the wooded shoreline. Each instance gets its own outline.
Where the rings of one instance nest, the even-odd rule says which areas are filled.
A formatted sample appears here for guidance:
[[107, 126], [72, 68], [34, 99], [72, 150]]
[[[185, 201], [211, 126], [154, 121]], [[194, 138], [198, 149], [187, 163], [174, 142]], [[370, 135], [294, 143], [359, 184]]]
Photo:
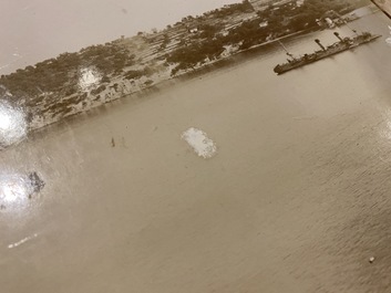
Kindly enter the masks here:
[[0, 0], [0, 74], [240, 0]]

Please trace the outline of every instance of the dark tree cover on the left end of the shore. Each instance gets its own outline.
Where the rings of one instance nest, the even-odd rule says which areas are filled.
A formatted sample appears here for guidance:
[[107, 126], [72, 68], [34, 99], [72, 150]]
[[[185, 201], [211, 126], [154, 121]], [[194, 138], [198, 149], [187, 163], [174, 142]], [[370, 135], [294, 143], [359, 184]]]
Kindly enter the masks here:
[[120, 74], [125, 66], [134, 64], [134, 55], [125, 48], [112, 43], [92, 45], [79, 53], [63, 53], [27, 66], [9, 75], [1, 75], [0, 84], [12, 94], [34, 96], [44, 92], [61, 92], [70, 95], [76, 92], [80, 70], [96, 67], [102, 74], [102, 82], [110, 82], [111, 75]]

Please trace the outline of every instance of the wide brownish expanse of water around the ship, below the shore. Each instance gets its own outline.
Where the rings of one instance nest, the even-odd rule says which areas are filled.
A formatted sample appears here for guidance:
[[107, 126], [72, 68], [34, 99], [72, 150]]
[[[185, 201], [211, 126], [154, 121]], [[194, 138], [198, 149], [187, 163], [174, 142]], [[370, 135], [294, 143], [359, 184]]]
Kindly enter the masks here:
[[[45, 181], [0, 197], [0, 292], [390, 292], [388, 24], [362, 18], [382, 38], [280, 76], [278, 44], [247, 52], [0, 153], [1, 185]], [[337, 40], [284, 43], [315, 39]]]

